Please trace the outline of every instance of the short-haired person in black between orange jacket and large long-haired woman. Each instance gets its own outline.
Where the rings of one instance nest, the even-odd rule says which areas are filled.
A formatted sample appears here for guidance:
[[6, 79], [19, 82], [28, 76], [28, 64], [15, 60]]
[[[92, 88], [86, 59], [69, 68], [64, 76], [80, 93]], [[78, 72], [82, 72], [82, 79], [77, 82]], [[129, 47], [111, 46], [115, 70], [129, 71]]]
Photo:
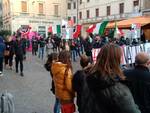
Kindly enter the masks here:
[[92, 65], [90, 64], [90, 59], [86, 55], [81, 55], [80, 65], [82, 67], [81, 70], [78, 70], [72, 80], [72, 87], [74, 91], [77, 93], [77, 106], [79, 113], [82, 113], [81, 105], [82, 105], [82, 91], [83, 91], [83, 83], [84, 78], [87, 77]]

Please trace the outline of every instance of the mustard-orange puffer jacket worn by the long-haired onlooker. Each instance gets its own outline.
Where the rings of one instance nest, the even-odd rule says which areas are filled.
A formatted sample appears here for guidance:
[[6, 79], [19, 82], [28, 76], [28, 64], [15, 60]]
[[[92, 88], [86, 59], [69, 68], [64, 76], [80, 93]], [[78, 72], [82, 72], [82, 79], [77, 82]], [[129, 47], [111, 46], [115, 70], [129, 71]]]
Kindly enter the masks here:
[[72, 72], [71, 69], [67, 70], [67, 65], [61, 62], [52, 64], [51, 71], [55, 85], [55, 95], [63, 101], [72, 101], [74, 98], [74, 91], [72, 89]]

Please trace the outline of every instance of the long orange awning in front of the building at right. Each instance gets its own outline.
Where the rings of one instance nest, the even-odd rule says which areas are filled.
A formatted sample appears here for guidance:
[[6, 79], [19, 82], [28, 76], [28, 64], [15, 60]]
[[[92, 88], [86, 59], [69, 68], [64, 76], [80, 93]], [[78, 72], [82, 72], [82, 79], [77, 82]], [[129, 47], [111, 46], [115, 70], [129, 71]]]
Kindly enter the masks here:
[[[117, 23], [118, 28], [127, 29], [131, 28], [132, 24], [139, 24], [141, 27], [150, 24], [150, 16], [141, 16], [141, 17], [134, 17], [127, 20], [122, 20]], [[107, 25], [108, 29], [115, 28], [115, 22], [111, 22]]]

